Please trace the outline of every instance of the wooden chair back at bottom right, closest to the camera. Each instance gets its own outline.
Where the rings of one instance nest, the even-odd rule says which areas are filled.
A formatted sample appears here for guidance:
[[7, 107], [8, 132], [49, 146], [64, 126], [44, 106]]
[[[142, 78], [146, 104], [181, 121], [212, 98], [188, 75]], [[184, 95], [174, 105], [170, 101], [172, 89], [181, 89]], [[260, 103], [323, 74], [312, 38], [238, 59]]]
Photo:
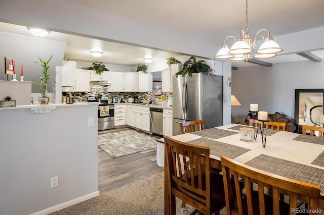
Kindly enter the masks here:
[[[226, 214], [296, 214], [297, 200], [308, 204], [308, 209], [319, 208], [319, 185], [309, 184], [267, 173], [236, 162], [224, 155], [221, 156], [223, 170]], [[232, 188], [231, 180], [238, 184], [243, 178], [246, 193]], [[253, 190], [251, 182], [257, 186]], [[236, 187], [236, 186], [235, 186]], [[264, 194], [264, 188], [272, 190], [272, 195]], [[236, 200], [231, 201], [230, 193], [234, 190]], [[279, 194], [289, 197], [289, 203], [281, 201]], [[318, 213], [312, 213], [318, 214]]]

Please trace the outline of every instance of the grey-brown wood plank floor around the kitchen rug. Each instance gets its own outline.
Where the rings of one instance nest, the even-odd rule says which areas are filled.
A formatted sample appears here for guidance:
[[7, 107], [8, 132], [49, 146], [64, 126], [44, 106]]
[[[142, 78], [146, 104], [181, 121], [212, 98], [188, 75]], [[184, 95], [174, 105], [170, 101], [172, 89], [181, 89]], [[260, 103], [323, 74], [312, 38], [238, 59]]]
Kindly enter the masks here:
[[[132, 129], [129, 127], [99, 131], [99, 134]], [[134, 129], [132, 129], [134, 130]], [[145, 132], [143, 132], [145, 133]], [[157, 139], [159, 136], [145, 133]], [[164, 171], [156, 164], [156, 148], [112, 158], [98, 146], [98, 186], [100, 194], [109, 192]]]

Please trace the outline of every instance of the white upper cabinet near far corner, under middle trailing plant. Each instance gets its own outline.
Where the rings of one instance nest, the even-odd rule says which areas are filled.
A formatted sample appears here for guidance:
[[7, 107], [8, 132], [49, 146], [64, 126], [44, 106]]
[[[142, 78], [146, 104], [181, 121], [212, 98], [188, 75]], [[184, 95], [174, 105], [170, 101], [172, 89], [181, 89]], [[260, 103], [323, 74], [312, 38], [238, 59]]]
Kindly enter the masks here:
[[150, 73], [134, 73], [134, 91], [152, 92], [153, 76]]

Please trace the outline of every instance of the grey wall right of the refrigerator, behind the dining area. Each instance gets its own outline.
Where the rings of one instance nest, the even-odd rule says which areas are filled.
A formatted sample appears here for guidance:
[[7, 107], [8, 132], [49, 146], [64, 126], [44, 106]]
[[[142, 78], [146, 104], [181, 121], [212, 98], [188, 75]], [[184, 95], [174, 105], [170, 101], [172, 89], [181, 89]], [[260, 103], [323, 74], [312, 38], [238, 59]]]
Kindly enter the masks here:
[[274, 64], [273, 67], [252, 66], [232, 71], [232, 94], [241, 103], [233, 106], [235, 120], [245, 122], [250, 103], [259, 111], [286, 114], [294, 122], [295, 89], [324, 88], [324, 62], [299, 61]]

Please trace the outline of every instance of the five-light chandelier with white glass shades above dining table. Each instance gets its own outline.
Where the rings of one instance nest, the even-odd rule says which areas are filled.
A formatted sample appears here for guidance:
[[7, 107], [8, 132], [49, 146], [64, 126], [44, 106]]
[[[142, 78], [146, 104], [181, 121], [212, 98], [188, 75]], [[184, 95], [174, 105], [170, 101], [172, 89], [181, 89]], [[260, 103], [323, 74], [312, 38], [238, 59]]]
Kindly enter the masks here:
[[[276, 57], [276, 53], [282, 51], [282, 48], [273, 41], [273, 37], [270, 36], [270, 32], [268, 29], [261, 29], [257, 32], [254, 37], [254, 41], [252, 42], [249, 27], [248, 27], [248, 0], [246, 0], [246, 27], [245, 31], [239, 31], [239, 37], [236, 39], [234, 36], [227, 36], [224, 39], [224, 44], [222, 48], [217, 52], [216, 59], [229, 59], [231, 61], [248, 61], [251, 57], [252, 47], [257, 49], [260, 45], [260, 42], [257, 41], [257, 37], [260, 36], [263, 39], [263, 43], [260, 45], [259, 49], [256, 51], [255, 56], [253, 58], [256, 59], [267, 59]], [[260, 34], [261, 31], [268, 32], [268, 36], [264, 38], [263, 35]], [[244, 38], [242, 37], [244, 36]], [[227, 38], [234, 38], [235, 43], [232, 45], [231, 49], [225, 43]]]

